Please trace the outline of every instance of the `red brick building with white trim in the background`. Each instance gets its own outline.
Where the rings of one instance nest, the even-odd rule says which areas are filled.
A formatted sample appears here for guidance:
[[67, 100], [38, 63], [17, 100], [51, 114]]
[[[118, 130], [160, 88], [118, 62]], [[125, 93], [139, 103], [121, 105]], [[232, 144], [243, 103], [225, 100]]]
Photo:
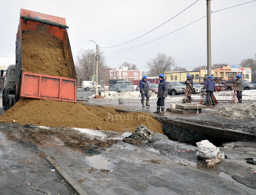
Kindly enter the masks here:
[[140, 70], [128, 70], [128, 67], [114, 68], [110, 70], [110, 79], [125, 79], [127, 81], [141, 80]]

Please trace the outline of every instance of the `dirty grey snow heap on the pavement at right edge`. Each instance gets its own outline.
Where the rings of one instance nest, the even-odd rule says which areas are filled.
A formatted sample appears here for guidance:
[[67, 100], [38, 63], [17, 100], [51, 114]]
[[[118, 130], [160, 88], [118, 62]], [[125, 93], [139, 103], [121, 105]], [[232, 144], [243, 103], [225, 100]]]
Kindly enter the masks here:
[[216, 110], [212, 115], [218, 115], [228, 119], [243, 120], [256, 118], [255, 104], [229, 104]]

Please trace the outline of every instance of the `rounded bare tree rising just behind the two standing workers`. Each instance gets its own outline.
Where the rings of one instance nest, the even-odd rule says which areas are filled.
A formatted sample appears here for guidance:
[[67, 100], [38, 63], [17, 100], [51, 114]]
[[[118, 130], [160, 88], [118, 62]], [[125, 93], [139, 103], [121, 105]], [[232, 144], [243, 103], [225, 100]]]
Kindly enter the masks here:
[[146, 64], [150, 70], [150, 74], [154, 75], [164, 74], [165, 71], [170, 71], [175, 66], [174, 58], [171, 55], [168, 56], [164, 52], [158, 52], [156, 57]]

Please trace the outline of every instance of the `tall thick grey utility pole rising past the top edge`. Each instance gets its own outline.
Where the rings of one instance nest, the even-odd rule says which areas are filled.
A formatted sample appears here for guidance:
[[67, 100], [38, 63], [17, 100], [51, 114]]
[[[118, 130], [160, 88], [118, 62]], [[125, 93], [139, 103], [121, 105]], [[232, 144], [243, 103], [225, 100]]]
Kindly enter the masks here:
[[207, 12], [207, 75], [212, 75], [212, 54], [211, 54], [211, 0], [206, 0]]

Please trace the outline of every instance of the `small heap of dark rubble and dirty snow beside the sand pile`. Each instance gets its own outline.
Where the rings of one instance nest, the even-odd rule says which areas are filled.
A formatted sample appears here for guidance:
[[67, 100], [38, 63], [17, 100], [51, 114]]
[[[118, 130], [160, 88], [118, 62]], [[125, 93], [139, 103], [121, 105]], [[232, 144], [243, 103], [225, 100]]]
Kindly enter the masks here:
[[125, 137], [123, 141], [139, 146], [148, 143], [154, 135], [155, 132], [150, 131], [150, 129], [141, 124], [132, 135]]

